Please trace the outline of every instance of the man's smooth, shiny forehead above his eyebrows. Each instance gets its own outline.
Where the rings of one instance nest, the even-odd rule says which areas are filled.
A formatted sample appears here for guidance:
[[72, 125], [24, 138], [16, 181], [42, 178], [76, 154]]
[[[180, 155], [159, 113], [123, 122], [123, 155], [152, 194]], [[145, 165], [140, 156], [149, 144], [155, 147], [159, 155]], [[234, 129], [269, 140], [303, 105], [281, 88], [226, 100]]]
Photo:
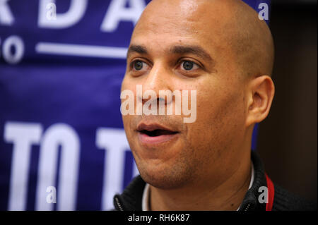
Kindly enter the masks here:
[[131, 43], [148, 47], [191, 44], [200, 45], [204, 49], [218, 45], [223, 22], [214, 12], [217, 8], [207, 2], [154, 1], [143, 12], [134, 29]]

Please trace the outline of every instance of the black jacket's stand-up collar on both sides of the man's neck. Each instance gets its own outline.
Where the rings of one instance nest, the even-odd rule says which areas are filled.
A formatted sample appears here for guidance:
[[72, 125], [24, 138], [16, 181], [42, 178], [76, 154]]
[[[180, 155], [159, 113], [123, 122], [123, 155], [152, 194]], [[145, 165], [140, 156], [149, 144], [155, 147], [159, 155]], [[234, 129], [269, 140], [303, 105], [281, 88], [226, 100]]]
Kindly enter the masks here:
[[[264, 166], [259, 159], [257, 152], [251, 152], [252, 162], [254, 165], [254, 182], [252, 187], [247, 190], [239, 211], [254, 211], [266, 209], [266, 204], [259, 203], [259, 187], [267, 186]], [[114, 196], [114, 207], [119, 211], [141, 211], [143, 189], [146, 183], [141, 176], [136, 176], [129, 186], [127, 186], [122, 195]]]

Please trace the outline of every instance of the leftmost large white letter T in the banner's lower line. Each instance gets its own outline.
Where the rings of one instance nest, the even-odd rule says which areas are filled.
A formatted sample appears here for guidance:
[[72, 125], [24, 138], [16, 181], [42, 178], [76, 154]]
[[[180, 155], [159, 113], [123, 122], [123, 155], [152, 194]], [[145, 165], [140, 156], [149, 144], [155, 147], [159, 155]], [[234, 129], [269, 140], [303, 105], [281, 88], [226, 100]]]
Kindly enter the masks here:
[[6, 122], [4, 140], [13, 143], [8, 210], [25, 210], [31, 145], [42, 135], [39, 123]]

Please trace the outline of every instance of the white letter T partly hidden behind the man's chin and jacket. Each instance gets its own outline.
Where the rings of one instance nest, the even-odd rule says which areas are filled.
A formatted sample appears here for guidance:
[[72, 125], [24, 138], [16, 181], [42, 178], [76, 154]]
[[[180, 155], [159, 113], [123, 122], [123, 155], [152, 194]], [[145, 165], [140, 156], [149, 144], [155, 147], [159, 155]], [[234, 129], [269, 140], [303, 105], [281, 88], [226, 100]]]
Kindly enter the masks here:
[[[129, 150], [129, 144], [123, 129], [98, 128], [96, 146], [106, 150], [102, 210], [110, 210], [113, 208], [112, 198], [122, 190], [124, 152]], [[134, 165], [133, 176], [136, 176], [137, 173], [136, 165]]]

